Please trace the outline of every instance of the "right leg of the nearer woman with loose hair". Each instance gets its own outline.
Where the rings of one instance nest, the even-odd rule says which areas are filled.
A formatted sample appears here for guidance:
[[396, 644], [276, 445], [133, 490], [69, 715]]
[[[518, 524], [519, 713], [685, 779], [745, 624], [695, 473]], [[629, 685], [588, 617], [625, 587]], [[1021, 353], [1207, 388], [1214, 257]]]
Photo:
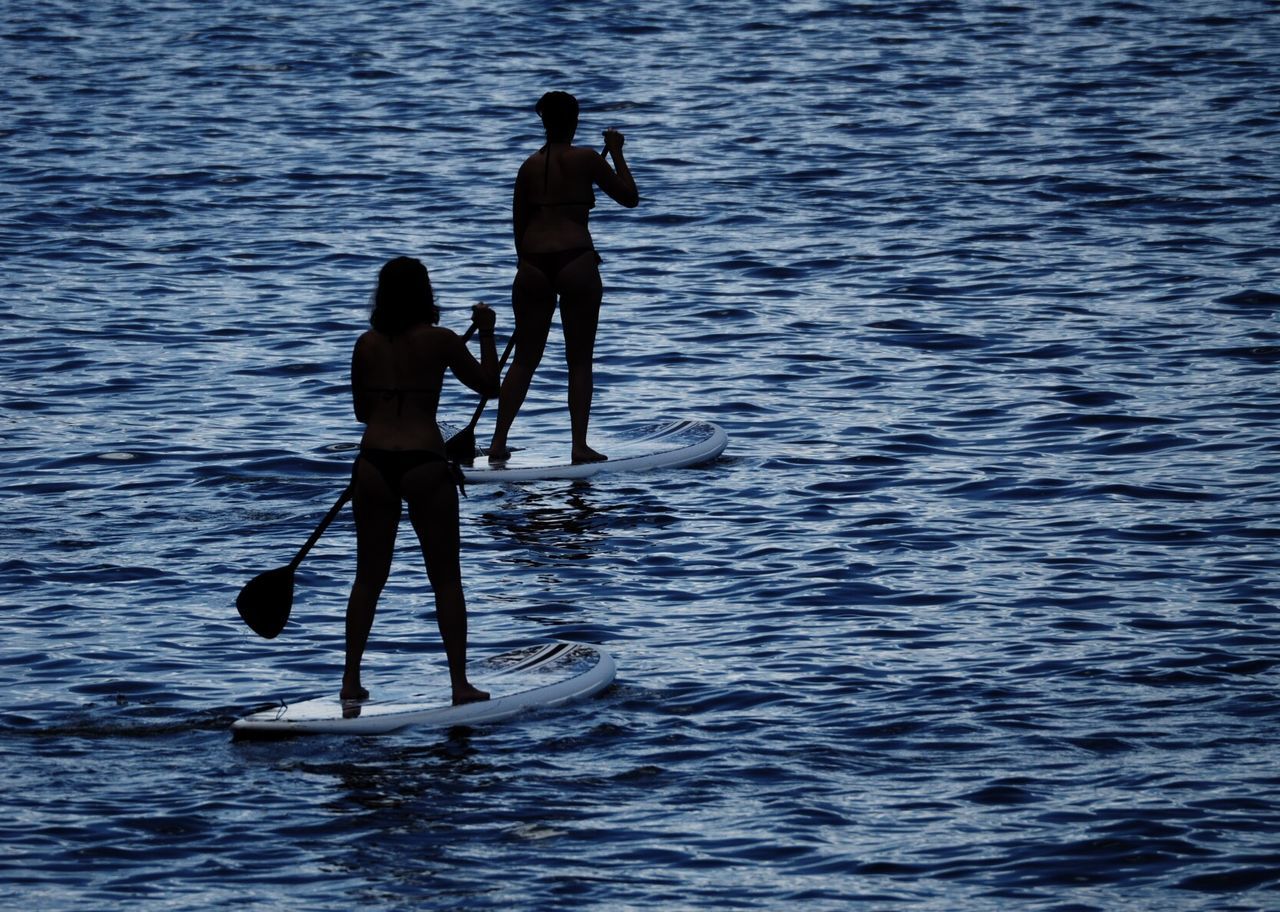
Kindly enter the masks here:
[[413, 532], [422, 546], [426, 576], [435, 593], [435, 623], [449, 662], [453, 702], [489, 699], [488, 693], [471, 687], [467, 680], [467, 605], [458, 562], [458, 489], [453, 485], [449, 468], [429, 462], [407, 473], [404, 498]]

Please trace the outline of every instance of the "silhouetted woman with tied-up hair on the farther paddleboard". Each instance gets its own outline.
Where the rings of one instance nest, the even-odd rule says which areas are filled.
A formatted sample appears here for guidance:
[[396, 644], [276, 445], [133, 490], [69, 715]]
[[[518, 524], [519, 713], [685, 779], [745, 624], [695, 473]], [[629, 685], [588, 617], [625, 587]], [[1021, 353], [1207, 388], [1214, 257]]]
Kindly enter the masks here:
[[599, 187], [631, 209], [640, 202], [636, 183], [622, 158], [622, 133], [604, 131], [609, 168], [594, 149], [573, 146], [577, 100], [567, 92], [548, 92], [538, 102], [547, 128], [547, 145], [520, 167], [512, 201], [512, 227], [520, 265], [511, 289], [516, 314], [516, 348], [498, 397], [498, 420], [489, 444], [490, 460], [504, 460], [507, 433], [525, 402], [529, 382], [543, 359], [556, 298], [559, 297], [568, 362], [568, 414], [575, 462], [605, 459], [586, 443], [591, 414], [595, 328], [600, 318], [600, 257], [591, 243], [588, 215]]

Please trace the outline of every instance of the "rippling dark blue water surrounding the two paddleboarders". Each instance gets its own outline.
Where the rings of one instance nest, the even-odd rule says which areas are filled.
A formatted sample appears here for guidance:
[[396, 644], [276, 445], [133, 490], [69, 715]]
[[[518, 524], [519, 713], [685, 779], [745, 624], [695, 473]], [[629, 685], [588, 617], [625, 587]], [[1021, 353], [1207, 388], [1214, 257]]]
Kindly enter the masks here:
[[[1277, 15], [0, 6], [10, 902], [1280, 906]], [[617, 684], [234, 743], [338, 684], [349, 520], [280, 639], [232, 603], [342, 488], [375, 270], [509, 327], [553, 87], [644, 196], [595, 214], [595, 425], [731, 446], [475, 487], [463, 570], [476, 652], [599, 643]], [[516, 433], [567, 447], [559, 357]], [[443, 675], [407, 548], [366, 666]]]

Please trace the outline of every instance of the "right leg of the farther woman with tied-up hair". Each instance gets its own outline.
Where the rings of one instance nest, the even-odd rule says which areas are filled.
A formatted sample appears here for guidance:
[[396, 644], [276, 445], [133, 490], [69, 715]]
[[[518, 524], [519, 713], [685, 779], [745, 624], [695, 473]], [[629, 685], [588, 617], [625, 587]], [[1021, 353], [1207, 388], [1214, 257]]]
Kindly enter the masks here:
[[572, 428], [575, 462], [607, 459], [586, 443], [595, 393], [595, 330], [600, 320], [600, 270], [595, 251], [589, 251], [564, 266], [559, 274], [561, 323], [564, 327], [564, 360], [568, 364], [568, 420]]

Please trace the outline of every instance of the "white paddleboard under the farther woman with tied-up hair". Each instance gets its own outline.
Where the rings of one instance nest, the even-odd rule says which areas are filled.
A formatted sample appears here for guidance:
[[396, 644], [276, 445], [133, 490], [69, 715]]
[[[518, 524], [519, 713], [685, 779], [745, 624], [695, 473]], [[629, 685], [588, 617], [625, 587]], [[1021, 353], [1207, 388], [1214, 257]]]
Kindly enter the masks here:
[[520, 441], [506, 462], [490, 462], [484, 450], [474, 465], [463, 466], [467, 484], [485, 482], [534, 482], [543, 479], [588, 478], [602, 471], [645, 471], [680, 469], [708, 462], [728, 444], [728, 434], [710, 421], [682, 419], [640, 428], [627, 434], [593, 434], [591, 446], [609, 459], [575, 465], [570, 459], [568, 437], [554, 443]]

